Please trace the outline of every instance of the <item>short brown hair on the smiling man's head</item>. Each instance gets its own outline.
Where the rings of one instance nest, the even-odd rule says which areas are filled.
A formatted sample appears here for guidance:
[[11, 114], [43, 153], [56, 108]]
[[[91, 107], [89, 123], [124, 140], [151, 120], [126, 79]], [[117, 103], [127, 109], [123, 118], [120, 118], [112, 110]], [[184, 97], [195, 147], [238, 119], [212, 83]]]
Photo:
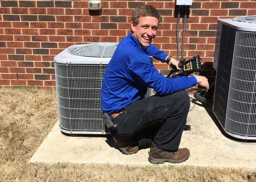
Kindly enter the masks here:
[[151, 5], [140, 5], [137, 8], [135, 8], [132, 12], [132, 21], [135, 25], [139, 24], [139, 18], [140, 17], [145, 17], [145, 16], [153, 16], [158, 19], [158, 24], [159, 24], [159, 19], [160, 15], [157, 9], [155, 9]]

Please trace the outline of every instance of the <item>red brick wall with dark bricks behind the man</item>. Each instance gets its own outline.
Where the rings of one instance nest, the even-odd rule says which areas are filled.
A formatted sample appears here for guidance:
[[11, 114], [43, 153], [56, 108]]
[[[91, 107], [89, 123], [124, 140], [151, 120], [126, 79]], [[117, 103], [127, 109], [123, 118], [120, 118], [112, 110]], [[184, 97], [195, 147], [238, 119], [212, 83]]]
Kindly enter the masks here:
[[[174, 0], [101, 0], [101, 11], [89, 11], [86, 0], [0, 0], [0, 4], [3, 87], [38, 86], [54, 90], [54, 56], [75, 44], [120, 41], [129, 34], [131, 13], [140, 4], [153, 5], [161, 13], [154, 45], [174, 57], [177, 54]], [[255, 7], [254, 0], [193, 0], [186, 24], [184, 57], [199, 54], [202, 74], [210, 82], [215, 77], [212, 61], [217, 19], [256, 15]], [[180, 23], [179, 29], [182, 26]], [[154, 61], [154, 65], [162, 74], [169, 73], [167, 64]]]

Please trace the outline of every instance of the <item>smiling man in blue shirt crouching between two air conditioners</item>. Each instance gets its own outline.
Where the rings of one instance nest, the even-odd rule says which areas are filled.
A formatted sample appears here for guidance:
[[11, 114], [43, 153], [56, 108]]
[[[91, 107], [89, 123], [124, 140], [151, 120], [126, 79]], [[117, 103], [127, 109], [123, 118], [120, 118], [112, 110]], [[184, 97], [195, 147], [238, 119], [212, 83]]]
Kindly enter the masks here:
[[[207, 91], [209, 84], [203, 76], [165, 78], [157, 71], [149, 56], [180, 69], [176, 59], [151, 45], [159, 18], [151, 5], [134, 9], [131, 33], [120, 41], [106, 68], [101, 105], [114, 124], [110, 131], [124, 154], [138, 152], [138, 146], [151, 140], [151, 163], [178, 163], [189, 157], [188, 149], [178, 149], [190, 105], [184, 90], [199, 84]], [[148, 87], [157, 95], [143, 98]]]

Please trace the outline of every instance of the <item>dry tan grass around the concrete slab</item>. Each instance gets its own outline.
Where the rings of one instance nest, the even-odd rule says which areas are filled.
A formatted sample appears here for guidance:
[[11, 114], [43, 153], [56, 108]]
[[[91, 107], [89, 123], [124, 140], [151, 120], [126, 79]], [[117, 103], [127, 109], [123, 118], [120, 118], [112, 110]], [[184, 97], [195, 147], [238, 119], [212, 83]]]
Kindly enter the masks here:
[[27, 163], [57, 117], [56, 92], [0, 89], [0, 181], [256, 181], [243, 169]]

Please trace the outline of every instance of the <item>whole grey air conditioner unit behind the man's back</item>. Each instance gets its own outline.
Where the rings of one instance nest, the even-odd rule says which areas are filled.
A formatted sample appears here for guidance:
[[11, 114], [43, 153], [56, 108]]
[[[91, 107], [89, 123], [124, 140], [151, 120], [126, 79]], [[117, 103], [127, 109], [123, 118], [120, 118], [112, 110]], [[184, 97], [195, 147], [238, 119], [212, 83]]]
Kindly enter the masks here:
[[[60, 130], [68, 134], [109, 134], [101, 119], [103, 76], [118, 43], [68, 47], [54, 57]], [[148, 89], [147, 96], [152, 95]]]

